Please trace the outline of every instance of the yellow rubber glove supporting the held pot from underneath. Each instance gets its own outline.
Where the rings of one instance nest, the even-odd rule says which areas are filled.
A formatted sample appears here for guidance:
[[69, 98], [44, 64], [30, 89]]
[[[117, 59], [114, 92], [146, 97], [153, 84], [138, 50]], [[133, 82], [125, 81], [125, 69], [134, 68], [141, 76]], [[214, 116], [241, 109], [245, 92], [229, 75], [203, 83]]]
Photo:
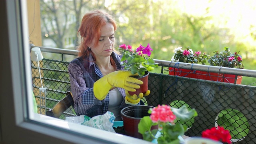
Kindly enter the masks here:
[[124, 98], [126, 104], [137, 105], [144, 96], [148, 96], [150, 94], [150, 90], [147, 90], [145, 94], [142, 92], [137, 96], [136, 94], [130, 95], [128, 91], [125, 91], [126, 97]]

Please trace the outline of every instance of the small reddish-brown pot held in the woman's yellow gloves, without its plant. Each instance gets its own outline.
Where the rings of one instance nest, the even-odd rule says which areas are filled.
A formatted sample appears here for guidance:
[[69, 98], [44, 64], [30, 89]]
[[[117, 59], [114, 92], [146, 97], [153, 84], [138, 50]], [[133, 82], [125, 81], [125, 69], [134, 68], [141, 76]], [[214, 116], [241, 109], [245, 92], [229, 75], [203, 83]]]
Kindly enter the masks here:
[[128, 92], [131, 96], [136, 94], [137, 96], [140, 94], [140, 92], [142, 92], [143, 94], [146, 93], [146, 91], [148, 90], [148, 75], [149, 72], [146, 71], [144, 76], [140, 77], [140, 76], [132, 76], [134, 78], [137, 78], [138, 80], [141, 80], [143, 82], [143, 84], [140, 85], [139, 89], [136, 89], [135, 92]]

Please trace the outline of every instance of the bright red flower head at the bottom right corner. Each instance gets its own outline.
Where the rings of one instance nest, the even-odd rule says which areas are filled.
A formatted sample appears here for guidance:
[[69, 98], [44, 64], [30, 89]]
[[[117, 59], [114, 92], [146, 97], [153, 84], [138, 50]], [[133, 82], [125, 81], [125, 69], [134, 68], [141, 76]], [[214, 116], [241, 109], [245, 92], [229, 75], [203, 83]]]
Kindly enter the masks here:
[[218, 126], [217, 128], [207, 129], [202, 132], [202, 137], [210, 138], [212, 140], [222, 140], [222, 142], [227, 142], [231, 144], [230, 141], [231, 135], [228, 130], [225, 130], [223, 127]]

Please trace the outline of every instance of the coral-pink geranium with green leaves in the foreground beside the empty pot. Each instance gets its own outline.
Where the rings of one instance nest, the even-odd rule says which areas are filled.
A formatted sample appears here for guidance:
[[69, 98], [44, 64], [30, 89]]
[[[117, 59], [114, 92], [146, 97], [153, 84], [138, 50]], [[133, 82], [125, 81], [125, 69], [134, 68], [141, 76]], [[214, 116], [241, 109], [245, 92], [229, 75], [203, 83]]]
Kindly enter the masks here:
[[[144, 116], [139, 124], [138, 131], [143, 140], [157, 140], [158, 144], [180, 144], [180, 136], [187, 130], [186, 124], [182, 125], [176, 121], [179, 118], [188, 121], [197, 116], [195, 109], [188, 110], [186, 106], [171, 108], [168, 105], [158, 105], [148, 110], [150, 116]], [[176, 122], [175, 122], [176, 121]], [[157, 129], [151, 129], [157, 126]]]

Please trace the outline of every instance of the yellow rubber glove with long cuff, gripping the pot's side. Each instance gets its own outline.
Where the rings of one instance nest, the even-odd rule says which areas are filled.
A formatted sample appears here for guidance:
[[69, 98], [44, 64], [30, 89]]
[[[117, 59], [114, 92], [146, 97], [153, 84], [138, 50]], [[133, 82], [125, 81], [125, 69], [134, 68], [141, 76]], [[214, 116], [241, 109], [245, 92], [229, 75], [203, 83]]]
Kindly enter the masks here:
[[130, 71], [119, 70], [103, 76], [93, 85], [94, 96], [99, 100], [103, 100], [106, 98], [109, 90], [114, 87], [124, 88], [124, 90], [135, 92], [135, 89], [140, 88], [140, 84], [143, 84], [141, 80], [130, 77], [135, 75]]

